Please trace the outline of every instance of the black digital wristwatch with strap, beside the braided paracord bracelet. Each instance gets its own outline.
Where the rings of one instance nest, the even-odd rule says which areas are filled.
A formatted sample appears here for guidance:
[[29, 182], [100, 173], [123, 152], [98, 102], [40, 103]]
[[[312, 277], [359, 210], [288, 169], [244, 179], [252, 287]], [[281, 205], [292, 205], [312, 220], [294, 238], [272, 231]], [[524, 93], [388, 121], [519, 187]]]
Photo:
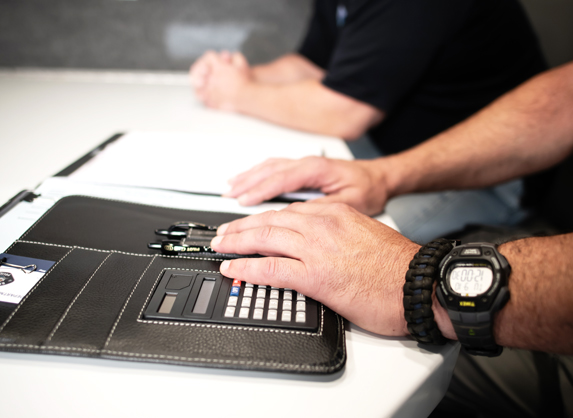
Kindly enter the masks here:
[[510, 272], [495, 245], [484, 242], [454, 247], [440, 263], [436, 294], [468, 353], [501, 354], [503, 348], [493, 336], [493, 318], [509, 300]]

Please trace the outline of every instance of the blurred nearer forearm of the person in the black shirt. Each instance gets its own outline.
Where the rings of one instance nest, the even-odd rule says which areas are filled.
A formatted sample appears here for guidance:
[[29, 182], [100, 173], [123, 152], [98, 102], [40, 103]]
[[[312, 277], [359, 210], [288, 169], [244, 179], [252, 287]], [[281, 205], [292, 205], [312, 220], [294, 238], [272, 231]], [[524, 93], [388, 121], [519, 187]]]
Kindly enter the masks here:
[[356, 139], [382, 120], [382, 112], [324, 87], [318, 80], [286, 85], [248, 83], [236, 109], [308, 132]]

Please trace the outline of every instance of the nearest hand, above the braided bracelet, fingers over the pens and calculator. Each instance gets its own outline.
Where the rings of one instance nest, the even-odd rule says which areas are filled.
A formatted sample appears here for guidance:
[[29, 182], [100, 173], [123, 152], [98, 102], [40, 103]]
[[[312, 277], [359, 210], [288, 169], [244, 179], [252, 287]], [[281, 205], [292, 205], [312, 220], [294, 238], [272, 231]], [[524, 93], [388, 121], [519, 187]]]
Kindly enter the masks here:
[[402, 286], [419, 245], [344, 204], [295, 203], [221, 225], [211, 247], [264, 258], [224, 261], [221, 273], [291, 288], [356, 325], [407, 335]]

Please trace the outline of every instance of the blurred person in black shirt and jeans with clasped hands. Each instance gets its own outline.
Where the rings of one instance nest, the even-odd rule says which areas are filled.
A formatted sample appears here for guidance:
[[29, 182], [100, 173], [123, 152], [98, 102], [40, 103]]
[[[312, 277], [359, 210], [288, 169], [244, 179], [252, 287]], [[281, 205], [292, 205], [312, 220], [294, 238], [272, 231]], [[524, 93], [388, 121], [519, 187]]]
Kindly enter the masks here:
[[[190, 76], [208, 107], [346, 140], [367, 133], [389, 155], [545, 69], [518, 0], [317, 0], [296, 53], [251, 66], [240, 53], [209, 51]], [[452, 212], [464, 214], [458, 227], [517, 222], [520, 193], [517, 182], [396, 200], [387, 210], [406, 236], [426, 241], [454, 225]]]

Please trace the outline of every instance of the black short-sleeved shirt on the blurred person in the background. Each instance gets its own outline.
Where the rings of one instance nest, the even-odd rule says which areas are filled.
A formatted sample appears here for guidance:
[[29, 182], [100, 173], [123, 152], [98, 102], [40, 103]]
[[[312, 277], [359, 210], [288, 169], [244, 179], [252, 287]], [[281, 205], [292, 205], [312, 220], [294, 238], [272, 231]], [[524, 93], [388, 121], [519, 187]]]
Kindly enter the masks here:
[[316, 0], [299, 53], [326, 87], [386, 113], [370, 131], [386, 154], [546, 69], [517, 0]]

